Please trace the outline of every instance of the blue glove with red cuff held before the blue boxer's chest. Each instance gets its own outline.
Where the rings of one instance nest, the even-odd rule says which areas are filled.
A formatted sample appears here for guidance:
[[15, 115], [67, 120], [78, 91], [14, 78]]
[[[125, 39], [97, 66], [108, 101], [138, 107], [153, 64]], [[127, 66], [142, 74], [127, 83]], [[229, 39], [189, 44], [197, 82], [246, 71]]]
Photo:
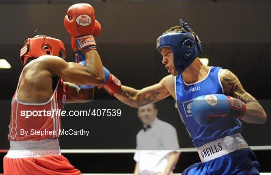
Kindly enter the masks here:
[[217, 117], [230, 115], [240, 119], [244, 116], [245, 109], [242, 101], [223, 94], [199, 96], [191, 105], [193, 118], [205, 127], [214, 125]]

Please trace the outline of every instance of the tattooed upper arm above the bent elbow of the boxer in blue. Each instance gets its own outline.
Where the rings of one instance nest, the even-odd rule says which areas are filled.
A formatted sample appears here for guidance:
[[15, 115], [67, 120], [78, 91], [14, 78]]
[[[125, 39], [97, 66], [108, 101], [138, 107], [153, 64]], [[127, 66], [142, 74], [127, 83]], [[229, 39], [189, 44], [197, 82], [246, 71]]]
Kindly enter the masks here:
[[227, 96], [240, 99], [245, 104], [248, 102], [258, 103], [250, 94], [244, 89], [239, 79], [235, 74], [227, 69], [223, 69], [220, 73], [220, 79], [224, 88], [224, 94]]

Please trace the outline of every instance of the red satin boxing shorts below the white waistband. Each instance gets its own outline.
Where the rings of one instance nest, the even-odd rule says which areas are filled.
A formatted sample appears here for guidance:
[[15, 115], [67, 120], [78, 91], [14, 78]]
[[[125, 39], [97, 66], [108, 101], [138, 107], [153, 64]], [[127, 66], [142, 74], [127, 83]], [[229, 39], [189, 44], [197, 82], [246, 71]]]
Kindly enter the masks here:
[[4, 174], [81, 174], [63, 155], [4, 157]]

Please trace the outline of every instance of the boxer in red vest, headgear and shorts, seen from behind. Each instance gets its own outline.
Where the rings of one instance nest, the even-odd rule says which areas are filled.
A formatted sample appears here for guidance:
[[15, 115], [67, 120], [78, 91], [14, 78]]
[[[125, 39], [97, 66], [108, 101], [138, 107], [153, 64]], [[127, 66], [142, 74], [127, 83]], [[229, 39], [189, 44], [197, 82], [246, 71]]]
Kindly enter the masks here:
[[[21, 49], [24, 69], [12, 100], [8, 135], [11, 148], [4, 157], [5, 174], [80, 174], [61, 155], [58, 142], [61, 116], [54, 111], [63, 110], [65, 103], [93, 99], [93, 88], [81, 89], [75, 84], [104, 83], [102, 62], [94, 41], [101, 28], [88, 4], [71, 6], [64, 22], [75, 42], [73, 49], [85, 55], [86, 65], [66, 62], [64, 44], [58, 39], [36, 35], [25, 42]], [[23, 111], [31, 111], [33, 116], [24, 117]], [[41, 116], [35, 117], [34, 111], [41, 112]], [[31, 134], [31, 130], [47, 130], [50, 134]]]

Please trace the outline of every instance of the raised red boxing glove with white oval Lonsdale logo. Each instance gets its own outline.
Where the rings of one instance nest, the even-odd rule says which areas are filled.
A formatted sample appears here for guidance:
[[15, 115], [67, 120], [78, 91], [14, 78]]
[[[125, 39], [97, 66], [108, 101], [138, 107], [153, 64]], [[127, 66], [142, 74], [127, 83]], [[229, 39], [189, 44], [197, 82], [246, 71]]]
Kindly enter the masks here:
[[95, 30], [95, 12], [89, 4], [72, 5], [64, 18], [64, 26], [73, 38], [77, 49], [83, 53], [96, 49], [93, 37]]

